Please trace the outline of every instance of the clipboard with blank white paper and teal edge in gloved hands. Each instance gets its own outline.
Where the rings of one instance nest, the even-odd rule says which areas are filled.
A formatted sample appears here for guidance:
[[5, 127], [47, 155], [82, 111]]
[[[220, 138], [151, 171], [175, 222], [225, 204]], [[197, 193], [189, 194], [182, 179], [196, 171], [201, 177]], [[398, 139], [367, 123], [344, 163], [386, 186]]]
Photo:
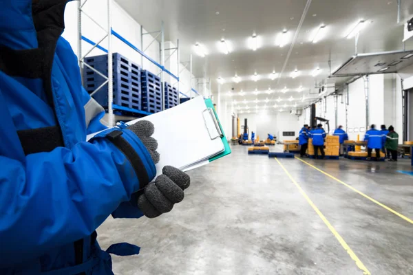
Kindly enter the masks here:
[[[158, 173], [166, 165], [182, 171], [209, 164], [231, 153], [213, 103], [202, 97], [193, 98], [183, 104], [145, 118], [120, 123], [125, 129], [139, 120], [148, 120], [155, 126], [152, 137], [158, 140], [160, 162]], [[87, 140], [97, 133], [87, 136]]]

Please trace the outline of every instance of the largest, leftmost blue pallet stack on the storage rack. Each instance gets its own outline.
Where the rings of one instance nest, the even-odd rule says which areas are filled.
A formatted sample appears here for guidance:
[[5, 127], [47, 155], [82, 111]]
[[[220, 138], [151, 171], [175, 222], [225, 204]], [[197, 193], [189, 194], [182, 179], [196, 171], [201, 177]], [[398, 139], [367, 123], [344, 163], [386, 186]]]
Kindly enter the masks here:
[[[85, 63], [107, 76], [107, 54], [85, 58]], [[128, 61], [125, 56], [113, 54], [113, 87], [114, 104], [130, 109], [142, 109], [142, 87], [140, 83], [140, 67]], [[86, 91], [91, 94], [105, 82], [89, 67], [83, 68], [83, 80]], [[107, 84], [103, 86], [93, 98], [107, 109]]]

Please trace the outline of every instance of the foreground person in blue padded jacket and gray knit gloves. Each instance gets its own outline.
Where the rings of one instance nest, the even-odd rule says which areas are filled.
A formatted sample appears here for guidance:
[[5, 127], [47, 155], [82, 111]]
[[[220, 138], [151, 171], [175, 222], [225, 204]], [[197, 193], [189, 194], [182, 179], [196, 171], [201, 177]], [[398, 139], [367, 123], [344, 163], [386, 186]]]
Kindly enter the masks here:
[[1, 1], [2, 275], [113, 274], [110, 254], [139, 248], [120, 243], [103, 251], [96, 228], [111, 214], [169, 212], [190, 183], [169, 166], [151, 182], [162, 156], [150, 122], [100, 124], [105, 111], [83, 89], [77, 58], [61, 38], [66, 2]]

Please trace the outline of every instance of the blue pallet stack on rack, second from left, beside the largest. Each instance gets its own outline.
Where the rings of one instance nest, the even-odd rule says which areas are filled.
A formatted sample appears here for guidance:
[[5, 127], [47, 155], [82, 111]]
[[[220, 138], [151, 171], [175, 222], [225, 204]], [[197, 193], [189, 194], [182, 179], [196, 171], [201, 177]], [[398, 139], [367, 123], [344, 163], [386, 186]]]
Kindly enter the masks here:
[[142, 111], [158, 113], [162, 111], [162, 83], [160, 78], [151, 72], [140, 72], [142, 83]]

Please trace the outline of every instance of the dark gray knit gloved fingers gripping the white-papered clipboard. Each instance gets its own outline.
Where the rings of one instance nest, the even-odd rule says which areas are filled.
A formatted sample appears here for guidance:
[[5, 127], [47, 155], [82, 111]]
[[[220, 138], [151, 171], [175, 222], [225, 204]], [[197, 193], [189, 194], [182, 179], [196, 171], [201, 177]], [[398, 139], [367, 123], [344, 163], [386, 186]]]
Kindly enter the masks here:
[[[141, 120], [128, 127], [134, 132], [145, 145], [153, 162], [159, 162], [160, 155], [156, 151], [158, 142], [151, 137], [155, 131], [153, 124], [146, 120]], [[138, 196], [138, 208], [142, 210], [148, 218], [159, 217], [163, 213], [172, 210], [175, 203], [184, 199], [184, 190], [189, 187], [191, 178], [181, 170], [172, 166], [165, 166], [162, 175], [145, 186], [142, 194]]]

